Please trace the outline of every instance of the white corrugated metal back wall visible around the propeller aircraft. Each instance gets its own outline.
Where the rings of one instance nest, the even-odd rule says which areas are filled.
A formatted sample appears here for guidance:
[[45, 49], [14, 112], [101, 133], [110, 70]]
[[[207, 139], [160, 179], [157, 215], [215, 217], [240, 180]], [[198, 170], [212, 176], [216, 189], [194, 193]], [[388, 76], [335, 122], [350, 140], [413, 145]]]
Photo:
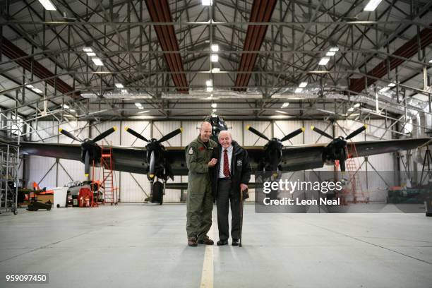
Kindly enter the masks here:
[[[373, 126], [382, 126], [383, 128], [376, 128], [369, 126], [366, 133], [361, 133], [356, 136], [354, 140], [379, 140], [380, 138], [390, 138], [390, 133], [386, 133], [384, 121], [373, 120], [371, 124]], [[258, 138], [255, 134], [246, 130], [246, 126], [250, 125], [256, 128], [258, 131], [268, 136], [268, 138], [277, 137], [282, 138], [287, 133], [290, 133], [298, 128], [304, 126], [306, 131], [299, 136], [292, 138], [290, 141], [286, 141], [285, 145], [299, 145], [299, 144], [311, 144], [311, 143], [328, 143], [329, 139], [320, 136], [318, 133], [311, 131], [311, 126], [316, 126], [323, 131], [326, 131], [332, 135], [332, 126], [322, 121], [227, 121], [227, 126], [232, 132], [233, 139], [236, 140], [240, 145], [252, 146], [252, 145], [265, 145], [266, 141]], [[102, 124], [93, 125], [90, 128], [90, 138], [94, 138], [99, 133], [117, 126], [118, 130], [112, 135], [106, 138], [112, 145], [125, 145], [125, 146], [136, 146], [143, 147], [145, 143], [143, 140], [139, 140], [131, 134], [124, 131], [126, 126], [133, 128], [133, 130], [141, 133], [146, 138], [161, 138], [163, 135], [175, 130], [182, 126], [184, 132], [181, 135], [170, 139], [168, 142], [164, 142], [165, 146], [181, 146], [185, 147], [194, 138], [198, 136], [200, 121], [115, 121], [105, 122]], [[346, 136], [351, 131], [361, 126], [358, 122], [354, 121], [339, 121], [335, 126], [335, 136]], [[34, 128], [37, 128], [37, 133], [32, 134], [32, 140], [40, 140], [40, 138], [47, 138], [45, 142], [53, 143], [74, 143], [66, 136], [57, 136], [58, 128], [56, 122], [52, 121], [39, 121], [37, 127], [35, 123]], [[80, 138], [87, 138], [89, 136], [89, 129], [87, 122], [71, 122], [69, 124], [61, 124], [61, 128], [67, 131], [76, 130], [76, 134], [79, 133]], [[368, 134], [366, 136], [366, 134]], [[104, 142], [105, 143], [105, 142]], [[115, 157], [115, 155], [114, 155]], [[393, 158], [392, 155], [376, 155], [369, 157], [369, 162], [378, 171], [390, 171], [393, 169]], [[363, 158], [359, 159], [359, 164], [364, 162]], [[80, 162], [71, 160], [59, 160], [59, 164], [56, 164], [55, 159], [47, 157], [32, 156], [28, 161], [27, 179], [31, 181], [40, 181], [42, 177], [47, 174], [50, 167], [51, 171], [44, 176], [44, 179], [40, 182], [40, 186], [54, 187], [63, 186], [69, 181], [73, 180], [84, 180], [84, 165]], [[332, 171], [332, 166], [325, 166], [322, 169]], [[365, 166], [361, 169], [366, 169]], [[368, 171], [371, 171], [371, 167], [368, 166]], [[99, 174], [99, 169], [96, 169], [96, 175]], [[116, 186], [119, 187], [119, 197], [121, 202], [125, 203], [139, 203], [142, 202], [150, 193], [150, 185], [147, 176], [143, 174], [131, 174], [128, 172], [116, 172]], [[169, 180], [171, 181], [171, 180]], [[187, 176], [176, 176], [175, 182], [187, 182]], [[379, 181], [378, 181], [379, 182]], [[382, 188], [383, 183], [368, 183], [368, 188], [373, 190], [375, 188]], [[252, 191], [251, 191], [252, 192]], [[176, 190], [167, 190], [164, 201], [167, 202], [178, 202], [180, 200], [180, 192]], [[253, 200], [253, 193], [251, 193], [251, 199]]]

